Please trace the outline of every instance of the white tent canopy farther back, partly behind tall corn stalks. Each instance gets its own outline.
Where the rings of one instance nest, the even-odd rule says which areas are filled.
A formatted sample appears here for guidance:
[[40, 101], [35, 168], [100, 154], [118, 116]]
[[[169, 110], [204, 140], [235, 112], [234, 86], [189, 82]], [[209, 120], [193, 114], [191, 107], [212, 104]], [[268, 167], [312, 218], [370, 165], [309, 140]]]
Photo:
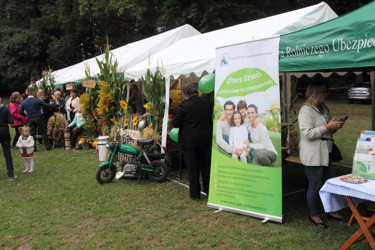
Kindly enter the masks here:
[[[141, 62], [148, 58], [150, 55], [161, 51], [179, 39], [198, 35], [200, 32], [192, 26], [185, 24], [178, 28], [145, 38], [136, 42], [132, 42], [111, 50], [114, 58], [118, 61], [118, 72], [123, 72], [125, 69]], [[55, 86], [60, 86], [63, 83], [79, 81], [86, 78], [85, 68], [86, 65], [90, 69], [90, 76], [99, 73], [99, 67], [96, 59], [102, 60], [102, 55], [84, 60], [75, 65], [56, 70], [51, 74], [55, 79]]]

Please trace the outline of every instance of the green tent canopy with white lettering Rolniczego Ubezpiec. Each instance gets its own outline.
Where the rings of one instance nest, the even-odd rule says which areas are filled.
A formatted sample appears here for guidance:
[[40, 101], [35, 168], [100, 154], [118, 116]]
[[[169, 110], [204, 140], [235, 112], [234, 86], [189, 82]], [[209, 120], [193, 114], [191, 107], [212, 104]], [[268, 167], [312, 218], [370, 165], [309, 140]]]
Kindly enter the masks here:
[[365, 71], [375, 66], [375, 1], [281, 35], [279, 71]]

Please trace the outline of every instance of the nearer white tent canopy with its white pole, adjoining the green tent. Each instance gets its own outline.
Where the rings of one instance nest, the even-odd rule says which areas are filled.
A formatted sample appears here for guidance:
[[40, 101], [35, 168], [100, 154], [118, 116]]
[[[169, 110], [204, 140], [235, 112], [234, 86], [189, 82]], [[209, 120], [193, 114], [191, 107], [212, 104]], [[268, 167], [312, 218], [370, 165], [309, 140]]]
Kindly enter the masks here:
[[[214, 72], [216, 47], [290, 33], [335, 17], [337, 15], [333, 10], [325, 2], [320, 2], [310, 7], [184, 38], [126, 69], [124, 75], [137, 81], [148, 68], [151, 72], [155, 72], [157, 68], [161, 69], [166, 78], [168, 99], [171, 79], [198, 82], [202, 75]], [[167, 107], [168, 103], [166, 112]], [[166, 123], [167, 113], [163, 120], [163, 124]], [[166, 142], [166, 127], [163, 126], [162, 145]]]

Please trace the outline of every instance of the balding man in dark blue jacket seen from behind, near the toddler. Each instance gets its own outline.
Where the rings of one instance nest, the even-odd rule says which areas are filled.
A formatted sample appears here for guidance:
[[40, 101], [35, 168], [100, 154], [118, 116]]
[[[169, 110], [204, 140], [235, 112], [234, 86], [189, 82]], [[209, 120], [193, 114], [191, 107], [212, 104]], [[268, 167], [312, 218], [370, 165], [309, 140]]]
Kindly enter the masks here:
[[44, 146], [47, 150], [50, 150], [50, 144], [48, 135], [45, 129], [44, 118], [41, 114], [41, 107], [45, 107], [46, 109], [50, 108], [50, 104], [45, 103], [44, 101], [34, 97], [34, 89], [27, 88], [27, 98], [22, 101], [21, 106], [19, 107], [19, 113], [22, 115], [24, 110], [27, 112], [27, 119], [28, 119], [28, 126], [31, 128], [31, 136], [34, 137], [34, 151], [36, 151], [36, 128], [41, 133], [41, 137], [43, 138]]

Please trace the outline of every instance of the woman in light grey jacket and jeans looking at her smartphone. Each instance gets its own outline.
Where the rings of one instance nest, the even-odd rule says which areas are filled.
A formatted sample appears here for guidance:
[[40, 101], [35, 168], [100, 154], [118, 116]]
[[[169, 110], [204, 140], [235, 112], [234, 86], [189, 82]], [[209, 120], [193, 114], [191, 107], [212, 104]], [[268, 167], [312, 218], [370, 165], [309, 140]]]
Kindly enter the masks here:
[[[306, 101], [299, 110], [298, 124], [300, 131], [299, 158], [308, 179], [306, 192], [307, 205], [310, 211], [309, 221], [314, 225], [326, 228], [327, 225], [318, 214], [319, 189], [321, 183], [334, 177], [333, 164], [329, 153], [332, 150], [332, 134], [340, 129], [344, 121], [332, 119], [328, 107], [324, 104], [327, 98], [328, 85], [315, 80], [306, 89]], [[321, 140], [321, 137], [329, 138]], [[328, 219], [347, 221], [339, 213], [328, 213]]]

